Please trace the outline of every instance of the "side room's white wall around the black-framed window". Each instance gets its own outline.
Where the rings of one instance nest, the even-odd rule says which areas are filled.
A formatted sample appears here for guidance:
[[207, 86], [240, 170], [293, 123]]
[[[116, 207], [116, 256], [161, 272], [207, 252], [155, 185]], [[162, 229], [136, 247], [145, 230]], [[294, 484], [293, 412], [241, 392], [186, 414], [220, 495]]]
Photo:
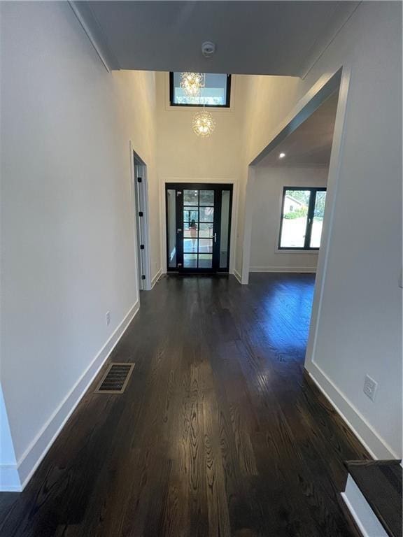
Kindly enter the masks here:
[[253, 187], [250, 271], [315, 272], [316, 251], [278, 250], [283, 187], [325, 187], [325, 166], [257, 166]]

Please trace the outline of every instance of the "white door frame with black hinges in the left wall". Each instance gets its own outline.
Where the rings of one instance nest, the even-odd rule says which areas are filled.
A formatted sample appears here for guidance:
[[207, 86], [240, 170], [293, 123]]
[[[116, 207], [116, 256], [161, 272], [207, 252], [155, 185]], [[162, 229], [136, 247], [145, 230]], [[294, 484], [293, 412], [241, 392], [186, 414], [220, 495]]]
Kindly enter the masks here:
[[[134, 255], [136, 264], [136, 282], [142, 282], [139, 289], [144, 291], [151, 290], [151, 255], [150, 255], [150, 220], [148, 206], [148, 178], [147, 164], [141, 159], [139, 154], [134, 151], [132, 141], [129, 141], [130, 149], [130, 171], [131, 171], [131, 189], [132, 189], [132, 209], [133, 209], [133, 230], [134, 230]], [[141, 183], [138, 178], [141, 177]], [[136, 194], [137, 191], [137, 194]], [[139, 195], [139, 206], [143, 213], [141, 217], [141, 241], [144, 248], [140, 250], [137, 229], [139, 227], [139, 215], [136, 214], [136, 195]], [[139, 274], [139, 266], [142, 266], [143, 274]], [[145, 278], [141, 279], [144, 275]]]

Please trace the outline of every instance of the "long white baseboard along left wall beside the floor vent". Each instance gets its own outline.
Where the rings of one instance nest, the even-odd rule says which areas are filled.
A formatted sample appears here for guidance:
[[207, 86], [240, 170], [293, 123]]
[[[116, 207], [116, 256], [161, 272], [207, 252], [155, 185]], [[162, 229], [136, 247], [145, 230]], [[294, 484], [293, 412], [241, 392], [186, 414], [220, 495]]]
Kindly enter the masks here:
[[[34, 441], [31, 442], [27, 450], [22, 454], [17, 464], [13, 467], [2, 466], [0, 468], [0, 492], [21, 492], [24, 489], [138, 311], [139, 301], [136, 301], [111, 337], [106, 341], [104, 347], [94, 357], [90, 366], [88, 366], [83, 375], [78, 379], [76, 385], [73, 386], [69, 394], [66, 395], [62, 403], [60, 403], [59, 407], [49, 418], [48, 422], [45, 423], [41, 431], [36, 435]], [[15, 482], [16, 476], [18, 478], [17, 483]]]

